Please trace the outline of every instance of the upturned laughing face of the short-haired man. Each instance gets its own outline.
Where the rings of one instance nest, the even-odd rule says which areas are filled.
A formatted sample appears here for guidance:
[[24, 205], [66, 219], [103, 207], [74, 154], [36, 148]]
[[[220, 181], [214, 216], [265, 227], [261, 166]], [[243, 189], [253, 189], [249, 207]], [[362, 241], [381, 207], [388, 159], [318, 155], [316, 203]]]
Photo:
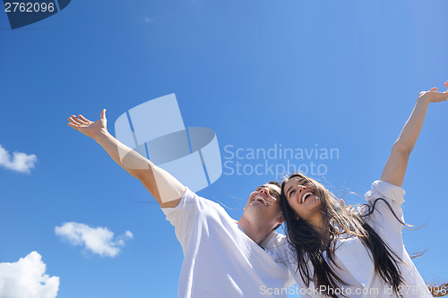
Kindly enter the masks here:
[[256, 219], [256, 222], [263, 222], [266, 226], [272, 226], [272, 228], [281, 224], [283, 217], [280, 210], [280, 187], [270, 183], [257, 187], [249, 195], [245, 215]]

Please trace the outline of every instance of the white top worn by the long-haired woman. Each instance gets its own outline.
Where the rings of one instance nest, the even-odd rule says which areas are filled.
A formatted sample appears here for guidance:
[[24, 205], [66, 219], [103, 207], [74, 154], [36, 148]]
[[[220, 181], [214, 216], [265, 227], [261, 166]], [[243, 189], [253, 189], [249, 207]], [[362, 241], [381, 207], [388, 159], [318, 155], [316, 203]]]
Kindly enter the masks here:
[[[389, 204], [391, 204], [392, 210], [397, 217], [401, 218], [404, 222], [403, 211], [401, 204], [404, 202], [404, 190], [391, 183], [383, 181], [375, 181], [372, 183], [372, 190], [366, 192], [367, 204], [372, 206], [376, 199], [383, 198]], [[360, 212], [365, 210], [360, 209]], [[433, 297], [427, 285], [422, 277], [418, 273], [417, 268], [414, 266], [409, 258], [409, 253], [406, 251], [403, 245], [403, 239], [401, 237], [401, 230], [403, 225], [393, 216], [391, 209], [383, 200], [378, 200], [375, 205], [375, 211], [366, 218], [366, 222], [375, 230], [377, 234], [383, 239], [384, 243], [387, 243], [389, 247], [394, 251], [402, 260], [400, 263], [401, 275], [406, 285], [401, 285], [400, 294], [402, 297]], [[289, 267], [291, 273], [295, 273], [295, 279], [297, 285], [301, 287], [301, 294], [307, 294], [309, 297], [323, 297], [323, 294], [319, 294], [318, 288], [314, 288], [312, 283], [310, 287], [306, 288], [304, 282], [300, 277], [300, 273], [297, 270], [297, 258], [286, 239], [282, 239], [275, 243], [275, 250], [271, 251], [271, 256], [274, 260], [284, 262]], [[326, 259], [326, 255], [323, 255]], [[398, 297], [397, 294], [392, 293], [392, 288], [387, 285], [383, 278], [379, 274], [375, 273], [374, 262], [371, 259], [370, 251], [366, 249], [363, 243], [358, 237], [344, 238], [340, 237], [336, 241], [334, 258], [333, 260], [339, 266], [337, 268], [334, 264], [331, 264], [334, 272], [347, 284], [339, 285], [340, 293], [336, 293], [338, 296], [345, 294], [347, 297]], [[313, 273], [312, 265], [310, 272]]]

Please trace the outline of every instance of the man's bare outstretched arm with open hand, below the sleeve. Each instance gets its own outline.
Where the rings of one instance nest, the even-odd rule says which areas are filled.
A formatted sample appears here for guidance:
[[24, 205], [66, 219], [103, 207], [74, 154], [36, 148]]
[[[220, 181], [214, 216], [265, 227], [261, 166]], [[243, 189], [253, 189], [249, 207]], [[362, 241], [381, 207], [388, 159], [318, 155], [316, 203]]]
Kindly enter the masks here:
[[167, 171], [116, 140], [108, 132], [105, 109], [101, 111], [101, 116], [97, 122], [91, 122], [82, 115], [78, 117], [72, 115], [68, 118], [68, 121], [69, 126], [96, 140], [119, 166], [139, 179], [159, 202], [160, 207], [177, 206], [185, 192], [185, 186]]

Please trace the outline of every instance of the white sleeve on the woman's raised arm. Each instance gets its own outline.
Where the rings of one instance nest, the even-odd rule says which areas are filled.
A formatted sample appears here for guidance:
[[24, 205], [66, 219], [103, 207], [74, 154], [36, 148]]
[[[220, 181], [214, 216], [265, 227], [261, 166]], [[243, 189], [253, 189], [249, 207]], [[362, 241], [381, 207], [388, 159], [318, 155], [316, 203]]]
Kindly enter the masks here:
[[[401, 232], [404, 223], [401, 205], [404, 202], [406, 192], [400, 187], [384, 181], [372, 183], [372, 189], [366, 192], [366, 201], [370, 209], [374, 207], [373, 213], [368, 216], [373, 221], [372, 226], [388, 232]], [[377, 200], [377, 199], [383, 200]], [[375, 203], [376, 201], [376, 203]], [[389, 208], [388, 204], [391, 208]], [[396, 217], [395, 217], [396, 216]], [[401, 221], [401, 222], [400, 222]]]

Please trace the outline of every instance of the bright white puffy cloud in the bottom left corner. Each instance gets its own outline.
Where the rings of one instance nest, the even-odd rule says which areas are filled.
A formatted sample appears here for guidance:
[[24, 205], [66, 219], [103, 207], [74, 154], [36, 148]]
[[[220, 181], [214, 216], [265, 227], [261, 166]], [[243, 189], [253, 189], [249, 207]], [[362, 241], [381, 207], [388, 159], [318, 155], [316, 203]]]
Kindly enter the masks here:
[[0, 263], [0, 297], [55, 298], [59, 277], [49, 277], [46, 270], [37, 251], [15, 263]]

